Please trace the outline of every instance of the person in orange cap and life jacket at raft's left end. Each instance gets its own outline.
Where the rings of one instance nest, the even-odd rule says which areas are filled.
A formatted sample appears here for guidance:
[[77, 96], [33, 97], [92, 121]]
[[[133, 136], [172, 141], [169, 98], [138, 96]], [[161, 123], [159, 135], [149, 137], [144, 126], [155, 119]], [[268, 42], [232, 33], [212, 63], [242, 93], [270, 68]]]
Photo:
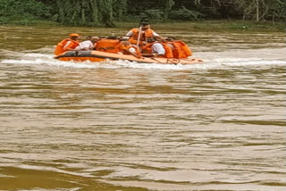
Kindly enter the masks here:
[[62, 54], [66, 51], [74, 50], [74, 48], [80, 44], [79, 37], [78, 34], [71, 33], [70, 38], [65, 38], [57, 44], [55, 47], [55, 54]]

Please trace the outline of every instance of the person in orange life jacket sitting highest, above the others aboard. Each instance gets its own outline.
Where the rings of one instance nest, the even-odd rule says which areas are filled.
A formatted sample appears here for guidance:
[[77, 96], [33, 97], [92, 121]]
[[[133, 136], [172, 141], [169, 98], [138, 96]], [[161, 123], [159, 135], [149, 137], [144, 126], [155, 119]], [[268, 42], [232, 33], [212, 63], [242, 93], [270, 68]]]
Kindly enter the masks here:
[[130, 31], [125, 35], [125, 37], [130, 37], [130, 44], [137, 45], [139, 38], [139, 46], [144, 46], [147, 43], [148, 37], [159, 37], [159, 35], [153, 29], [150, 29], [151, 26], [147, 22], [140, 23], [140, 28], [141, 31], [138, 28], [130, 29]]

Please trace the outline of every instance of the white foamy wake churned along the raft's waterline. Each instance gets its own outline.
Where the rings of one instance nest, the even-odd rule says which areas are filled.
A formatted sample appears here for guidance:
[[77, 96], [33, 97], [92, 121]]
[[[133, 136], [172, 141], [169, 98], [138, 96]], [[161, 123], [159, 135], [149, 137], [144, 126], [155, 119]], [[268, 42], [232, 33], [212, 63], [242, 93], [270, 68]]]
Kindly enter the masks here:
[[[36, 51], [35, 51], [36, 52]], [[5, 64], [46, 64], [56, 67], [68, 67], [79, 69], [116, 69], [133, 68], [147, 70], [214, 70], [228, 69], [236, 67], [263, 67], [265, 65], [285, 65], [286, 58], [282, 56], [285, 48], [278, 48], [276, 55], [271, 56], [267, 49], [256, 50], [229, 50], [225, 52], [198, 52], [192, 57], [202, 58], [204, 62], [190, 65], [182, 64], [158, 64], [158, 63], [139, 63], [129, 61], [105, 61], [105, 62], [62, 62], [54, 59], [54, 54], [41, 54], [30, 51], [29, 53], [4, 51], [3, 54], [9, 59], [4, 59], [0, 63]], [[278, 56], [280, 55], [280, 56]]]

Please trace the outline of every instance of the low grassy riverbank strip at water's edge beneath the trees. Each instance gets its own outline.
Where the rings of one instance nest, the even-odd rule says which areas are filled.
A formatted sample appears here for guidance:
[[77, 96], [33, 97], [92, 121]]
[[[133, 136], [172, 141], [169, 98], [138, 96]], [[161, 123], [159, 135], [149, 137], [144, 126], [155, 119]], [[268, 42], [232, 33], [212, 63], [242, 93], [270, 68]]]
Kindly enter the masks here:
[[[212, 20], [212, 21], [168, 21], [151, 22], [156, 29], [190, 29], [190, 30], [228, 30], [228, 31], [253, 31], [253, 32], [284, 32], [284, 22], [272, 21], [231, 21], [231, 20]], [[53, 21], [11, 21], [5, 25], [29, 25], [29, 26], [63, 26]], [[134, 28], [138, 23], [118, 22], [115, 28]], [[166, 27], [167, 26], [167, 27]], [[168, 27], [169, 26], [169, 27]], [[91, 28], [91, 27], [87, 27]], [[92, 27], [94, 28], [94, 27]]]

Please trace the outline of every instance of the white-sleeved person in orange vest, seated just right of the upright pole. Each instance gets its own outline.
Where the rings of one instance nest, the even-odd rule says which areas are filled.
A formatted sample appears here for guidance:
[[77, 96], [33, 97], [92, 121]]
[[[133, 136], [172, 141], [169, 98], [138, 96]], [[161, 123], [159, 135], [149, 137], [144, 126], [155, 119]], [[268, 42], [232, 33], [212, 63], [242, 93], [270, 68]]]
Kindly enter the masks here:
[[162, 43], [156, 41], [154, 37], [148, 37], [147, 38], [147, 46], [143, 46], [143, 50], [148, 50], [149, 53], [144, 53], [143, 56], [146, 57], [164, 57], [164, 54], [166, 53], [164, 46]]

